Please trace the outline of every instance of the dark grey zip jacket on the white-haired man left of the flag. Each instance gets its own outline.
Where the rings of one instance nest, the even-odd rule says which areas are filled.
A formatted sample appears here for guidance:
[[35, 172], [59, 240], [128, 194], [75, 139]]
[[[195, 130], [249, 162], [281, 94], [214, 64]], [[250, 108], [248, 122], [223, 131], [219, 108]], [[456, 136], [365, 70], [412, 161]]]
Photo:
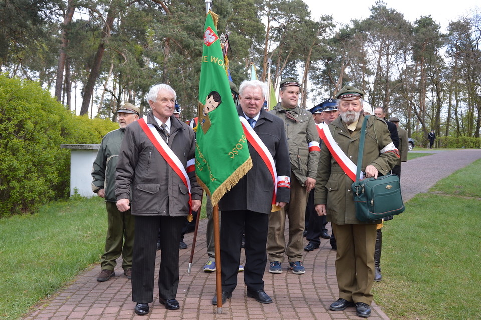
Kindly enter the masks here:
[[[174, 116], [167, 144], [184, 167], [195, 157], [195, 133], [187, 124]], [[153, 124], [161, 137], [164, 132], [155, 121], [152, 112], [147, 123]], [[187, 216], [189, 213], [188, 189], [144, 133], [138, 121], [125, 129], [116, 170], [115, 195], [117, 200], [131, 196], [132, 215]], [[202, 189], [197, 184], [195, 172], [189, 173], [193, 200], [201, 200]], [[132, 194], [130, 194], [132, 187]]]

